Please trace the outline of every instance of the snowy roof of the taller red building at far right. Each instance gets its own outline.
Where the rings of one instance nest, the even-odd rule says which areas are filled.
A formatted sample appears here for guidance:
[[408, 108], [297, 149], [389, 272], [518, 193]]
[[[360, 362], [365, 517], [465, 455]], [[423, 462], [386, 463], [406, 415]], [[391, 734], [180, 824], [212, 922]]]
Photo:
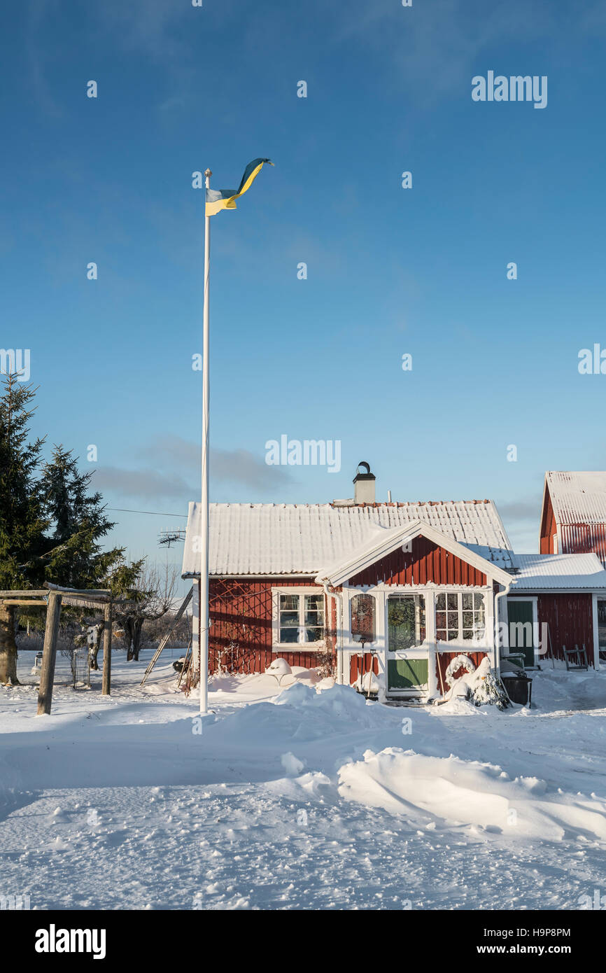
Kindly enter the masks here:
[[606, 523], [606, 472], [548, 470], [545, 476], [556, 523]]

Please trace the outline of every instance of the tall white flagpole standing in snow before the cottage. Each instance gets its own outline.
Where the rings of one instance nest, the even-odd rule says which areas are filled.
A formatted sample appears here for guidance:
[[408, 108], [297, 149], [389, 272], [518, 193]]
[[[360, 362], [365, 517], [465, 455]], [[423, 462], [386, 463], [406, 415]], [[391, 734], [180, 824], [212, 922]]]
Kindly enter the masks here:
[[[212, 172], [206, 169], [206, 189]], [[210, 272], [210, 217], [206, 216], [204, 194], [204, 331], [202, 341], [202, 498], [200, 503], [200, 714], [208, 712], [208, 407], [210, 384], [208, 370], [208, 291]]]

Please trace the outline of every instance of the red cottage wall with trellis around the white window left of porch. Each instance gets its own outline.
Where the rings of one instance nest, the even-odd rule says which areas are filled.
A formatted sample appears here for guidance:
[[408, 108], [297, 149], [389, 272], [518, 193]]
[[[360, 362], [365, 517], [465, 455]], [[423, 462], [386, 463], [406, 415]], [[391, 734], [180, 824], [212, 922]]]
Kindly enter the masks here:
[[[210, 631], [208, 633], [208, 671], [220, 666], [232, 672], [264, 672], [274, 659], [285, 659], [289, 666], [318, 666], [318, 653], [309, 651], [271, 651], [271, 589], [274, 587], [315, 587], [313, 579], [247, 578], [210, 579]], [[322, 588], [318, 587], [318, 592]], [[337, 609], [327, 613], [325, 624], [330, 647], [335, 649]], [[237, 648], [229, 650], [230, 642]]]

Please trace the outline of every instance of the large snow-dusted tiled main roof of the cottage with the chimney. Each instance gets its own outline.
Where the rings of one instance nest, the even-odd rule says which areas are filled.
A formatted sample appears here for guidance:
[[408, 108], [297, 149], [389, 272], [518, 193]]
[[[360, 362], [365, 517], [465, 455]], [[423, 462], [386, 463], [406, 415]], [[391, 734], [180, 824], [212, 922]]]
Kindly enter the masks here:
[[[315, 576], [373, 539], [376, 526], [428, 523], [501, 568], [511, 544], [491, 500], [429, 503], [211, 503], [209, 571], [214, 575]], [[190, 504], [183, 576], [199, 574], [199, 505]]]

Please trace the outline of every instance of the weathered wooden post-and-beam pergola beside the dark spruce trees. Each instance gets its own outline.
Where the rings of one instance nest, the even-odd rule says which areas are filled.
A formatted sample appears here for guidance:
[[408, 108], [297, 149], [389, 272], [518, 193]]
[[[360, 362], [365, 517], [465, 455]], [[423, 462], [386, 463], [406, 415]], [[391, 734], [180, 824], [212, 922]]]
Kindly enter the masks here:
[[[110, 696], [112, 691], [112, 620], [116, 599], [109, 589], [60, 588], [46, 581], [44, 589], [24, 591], [0, 591], [0, 602], [19, 608], [46, 607], [47, 624], [44, 632], [40, 689], [38, 691], [38, 715], [51, 712], [53, 703], [54, 663], [56, 643], [61, 618], [61, 605], [74, 608], [103, 610], [103, 677], [101, 695]], [[121, 603], [123, 599], [120, 599]]]

